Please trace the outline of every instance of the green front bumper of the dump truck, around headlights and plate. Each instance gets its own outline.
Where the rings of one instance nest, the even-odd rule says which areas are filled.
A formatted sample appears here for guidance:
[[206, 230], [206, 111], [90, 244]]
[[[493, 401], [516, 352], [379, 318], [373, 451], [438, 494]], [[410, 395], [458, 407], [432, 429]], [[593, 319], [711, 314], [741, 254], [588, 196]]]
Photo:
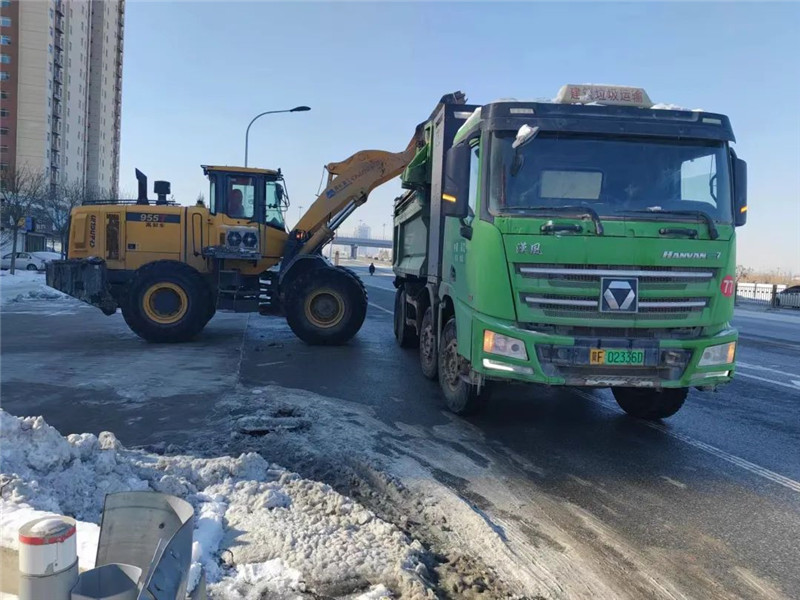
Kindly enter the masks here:
[[[691, 339], [570, 337], [522, 329], [513, 322], [477, 313], [472, 315], [471, 330], [472, 368], [487, 378], [595, 387], [685, 388], [728, 383], [734, 373], [733, 361], [699, 363], [707, 348], [738, 339], [738, 332], [732, 328]], [[487, 330], [520, 340], [527, 359], [486, 352]], [[593, 349], [641, 351], [644, 364], [593, 365], [589, 358]]]

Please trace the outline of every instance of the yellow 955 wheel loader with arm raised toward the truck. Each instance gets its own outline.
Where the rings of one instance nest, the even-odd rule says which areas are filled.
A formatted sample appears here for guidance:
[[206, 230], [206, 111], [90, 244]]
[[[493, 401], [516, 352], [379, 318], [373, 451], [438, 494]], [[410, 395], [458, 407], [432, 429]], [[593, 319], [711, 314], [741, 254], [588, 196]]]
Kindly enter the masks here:
[[399, 175], [423, 140], [399, 153], [357, 152], [326, 166], [328, 182], [291, 232], [280, 170], [203, 166], [208, 206], [167, 200], [170, 184], [136, 171], [137, 200], [87, 202], [70, 215], [67, 259], [47, 265], [47, 285], [100, 308], [122, 310], [151, 342], [196, 336], [217, 310], [275, 312], [309, 344], [342, 344], [361, 328], [367, 294], [322, 248], [377, 186]]

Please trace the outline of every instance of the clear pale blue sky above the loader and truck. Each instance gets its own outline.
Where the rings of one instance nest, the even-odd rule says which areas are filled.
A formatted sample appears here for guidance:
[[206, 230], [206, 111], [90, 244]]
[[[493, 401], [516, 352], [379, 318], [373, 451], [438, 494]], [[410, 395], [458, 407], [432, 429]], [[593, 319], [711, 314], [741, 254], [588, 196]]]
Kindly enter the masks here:
[[[739, 262], [800, 274], [800, 4], [127, 2], [121, 188], [134, 168], [185, 204], [201, 164], [280, 167], [294, 224], [322, 167], [400, 151], [445, 93], [552, 97], [565, 83], [640, 86], [727, 114], [749, 166]], [[151, 183], [152, 191], [152, 183]], [[397, 181], [359, 220], [391, 235]]]

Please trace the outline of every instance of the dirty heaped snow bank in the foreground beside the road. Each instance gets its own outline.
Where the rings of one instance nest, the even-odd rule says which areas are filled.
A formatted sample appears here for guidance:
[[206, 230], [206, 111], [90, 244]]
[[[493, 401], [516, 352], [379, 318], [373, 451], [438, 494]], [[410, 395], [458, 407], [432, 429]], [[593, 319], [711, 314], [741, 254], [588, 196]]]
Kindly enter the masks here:
[[[196, 458], [127, 450], [114, 434], [62, 437], [41, 417], [0, 409], [0, 544], [47, 513], [79, 520], [82, 569], [94, 565], [105, 494], [155, 490], [195, 509], [190, 588], [201, 567], [218, 600], [433, 597], [417, 572], [423, 548], [328, 485], [259, 454]], [[247, 556], [260, 560], [247, 560]]]

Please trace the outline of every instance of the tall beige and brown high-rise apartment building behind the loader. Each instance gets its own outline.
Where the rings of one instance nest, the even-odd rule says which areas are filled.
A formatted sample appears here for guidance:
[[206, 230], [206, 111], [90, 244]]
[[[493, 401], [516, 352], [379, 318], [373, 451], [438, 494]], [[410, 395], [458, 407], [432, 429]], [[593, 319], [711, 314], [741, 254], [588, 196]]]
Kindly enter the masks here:
[[116, 194], [125, 0], [0, 0], [0, 168]]

